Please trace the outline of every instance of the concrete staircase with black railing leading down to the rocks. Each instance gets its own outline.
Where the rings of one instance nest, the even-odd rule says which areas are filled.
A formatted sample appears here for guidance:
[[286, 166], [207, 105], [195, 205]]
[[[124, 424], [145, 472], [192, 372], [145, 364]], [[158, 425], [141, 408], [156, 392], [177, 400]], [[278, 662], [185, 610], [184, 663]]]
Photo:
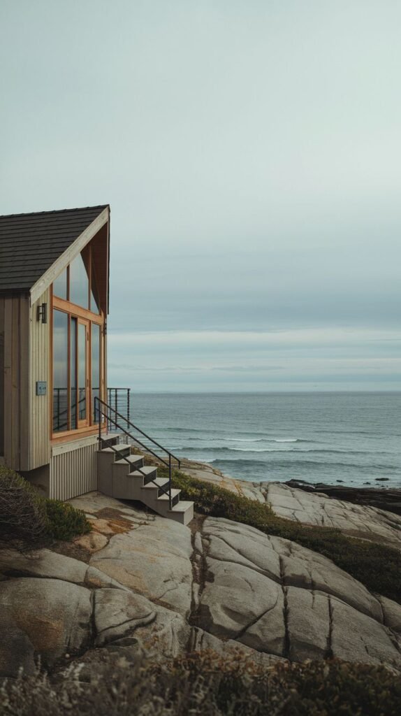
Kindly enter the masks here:
[[[99, 398], [95, 399], [95, 411], [99, 415], [99, 450], [96, 453], [99, 492], [118, 500], [138, 500], [159, 515], [187, 525], [194, 516], [194, 503], [184, 500], [180, 502], [180, 490], [172, 488], [171, 482], [172, 460], [176, 460], [179, 466], [178, 458]], [[113, 425], [119, 433], [102, 433], [102, 416], [107, 420], [107, 425]], [[142, 440], [135, 432], [139, 432]], [[159, 451], [164, 450], [167, 457], [157, 455], [149, 445], [144, 445], [144, 438], [157, 446]], [[169, 476], [157, 477], [157, 468], [144, 465], [143, 455], [132, 455], [131, 445], [120, 442], [122, 439], [142, 446], [147, 453], [161, 460], [169, 468]]]

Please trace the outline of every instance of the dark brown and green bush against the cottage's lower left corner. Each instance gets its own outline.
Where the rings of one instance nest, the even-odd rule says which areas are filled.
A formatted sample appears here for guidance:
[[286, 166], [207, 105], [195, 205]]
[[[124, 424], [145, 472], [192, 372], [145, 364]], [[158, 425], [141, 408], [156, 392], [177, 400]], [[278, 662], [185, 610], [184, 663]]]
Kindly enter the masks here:
[[85, 513], [42, 497], [14, 470], [0, 466], [0, 543], [20, 549], [70, 540], [89, 532]]

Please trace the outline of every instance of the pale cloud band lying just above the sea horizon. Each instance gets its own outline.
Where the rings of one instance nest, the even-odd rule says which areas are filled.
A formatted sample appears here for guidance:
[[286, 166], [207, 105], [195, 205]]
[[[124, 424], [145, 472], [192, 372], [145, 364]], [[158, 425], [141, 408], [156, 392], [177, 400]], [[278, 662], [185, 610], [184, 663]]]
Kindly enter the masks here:
[[305, 390], [322, 384], [394, 390], [400, 387], [400, 343], [396, 332], [372, 329], [117, 333], [109, 336], [109, 373], [113, 383], [135, 390]]

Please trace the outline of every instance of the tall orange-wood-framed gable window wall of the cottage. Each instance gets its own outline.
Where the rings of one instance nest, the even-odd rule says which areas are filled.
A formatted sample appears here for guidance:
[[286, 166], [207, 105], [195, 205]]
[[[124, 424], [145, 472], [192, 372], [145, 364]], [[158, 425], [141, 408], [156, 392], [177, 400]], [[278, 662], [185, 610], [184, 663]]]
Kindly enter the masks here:
[[104, 311], [91, 245], [53, 284], [53, 432], [95, 425], [104, 395]]

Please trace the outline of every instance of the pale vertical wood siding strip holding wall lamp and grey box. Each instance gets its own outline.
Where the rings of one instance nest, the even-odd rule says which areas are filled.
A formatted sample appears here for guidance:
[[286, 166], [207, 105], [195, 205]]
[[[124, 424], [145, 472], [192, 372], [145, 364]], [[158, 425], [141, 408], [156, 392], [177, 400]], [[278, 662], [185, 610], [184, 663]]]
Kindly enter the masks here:
[[[47, 323], [37, 320], [39, 304], [47, 305]], [[30, 311], [30, 421], [29, 421], [29, 468], [34, 470], [50, 462], [50, 291], [47, 289], [31, 306]], [[46, 395], [36, 395], [36, 381], [46, 381]]]

